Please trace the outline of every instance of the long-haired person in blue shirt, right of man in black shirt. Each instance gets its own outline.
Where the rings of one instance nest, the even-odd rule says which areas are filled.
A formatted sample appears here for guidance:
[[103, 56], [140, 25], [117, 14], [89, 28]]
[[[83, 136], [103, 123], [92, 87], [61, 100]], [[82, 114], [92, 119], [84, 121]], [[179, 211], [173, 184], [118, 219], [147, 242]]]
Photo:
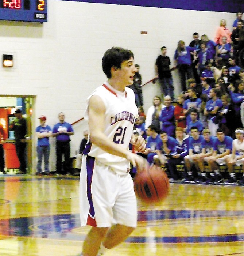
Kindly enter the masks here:
[[191, 68], [191, 52], [194, 57], [196, 56], [195, 48], [190, 46], [185, 46], [185, 42], [180, 40], [178, 42], [178, 47], [175, 50], [174, 60], [175, 65], [178, 67], [179, 75], [181, 77], [181, 90], [186, 91], [186, 77], [187, 79], [193, 78], [193, 71]]

